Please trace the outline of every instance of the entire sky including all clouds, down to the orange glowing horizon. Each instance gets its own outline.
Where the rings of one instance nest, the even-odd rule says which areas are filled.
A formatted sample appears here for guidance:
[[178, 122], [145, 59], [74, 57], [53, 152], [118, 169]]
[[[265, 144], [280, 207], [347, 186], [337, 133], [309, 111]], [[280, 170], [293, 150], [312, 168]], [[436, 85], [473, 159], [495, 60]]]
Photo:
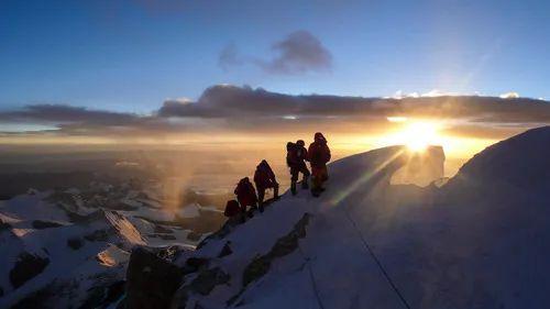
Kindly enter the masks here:
[[392, 117], [494, 142], [550, 123], [549, 11], [548, 1], [0, 0], [0, 143], [318, 129], [358, 141], [406, 128]]

